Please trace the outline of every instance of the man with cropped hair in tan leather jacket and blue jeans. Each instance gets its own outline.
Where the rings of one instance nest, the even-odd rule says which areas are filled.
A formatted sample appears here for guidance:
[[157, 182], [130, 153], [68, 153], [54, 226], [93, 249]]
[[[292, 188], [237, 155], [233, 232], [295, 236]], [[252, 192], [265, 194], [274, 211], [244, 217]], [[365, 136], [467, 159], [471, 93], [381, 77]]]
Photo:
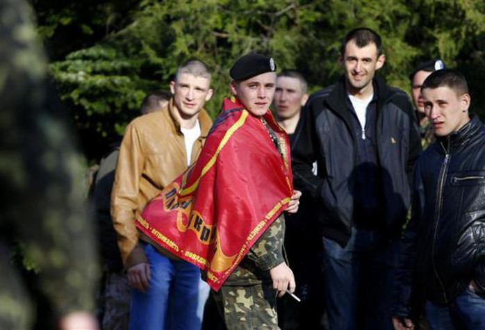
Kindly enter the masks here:
[[[130, 329], [200, 329], [207, 290], [199, 297], [199, 269], [174, 261], [138, 240], [135, 218], [157, 192], [199, 156], [211, 128], [203, 109], [211, 99], [211, 73], [190, 60], [170, 83], [162, 111], [133, 120], [124, 133], [111, 196], [111, 215], [133, 293]], [[204, 283], [205, 284], [205, 283]], [[199, 305], [199, 313], [197, 306]]]

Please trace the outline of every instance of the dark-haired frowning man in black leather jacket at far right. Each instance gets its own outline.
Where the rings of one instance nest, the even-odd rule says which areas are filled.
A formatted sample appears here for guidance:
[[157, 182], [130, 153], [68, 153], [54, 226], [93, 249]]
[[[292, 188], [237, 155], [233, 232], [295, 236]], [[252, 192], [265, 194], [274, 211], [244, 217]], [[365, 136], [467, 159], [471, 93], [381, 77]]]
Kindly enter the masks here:
[[430, 329], [485, 329], [485, 126], [456, 70], [434, 72], [421, 92], [437, 140], [416, 165], [393, 323], [412, 329], [421, 301]]

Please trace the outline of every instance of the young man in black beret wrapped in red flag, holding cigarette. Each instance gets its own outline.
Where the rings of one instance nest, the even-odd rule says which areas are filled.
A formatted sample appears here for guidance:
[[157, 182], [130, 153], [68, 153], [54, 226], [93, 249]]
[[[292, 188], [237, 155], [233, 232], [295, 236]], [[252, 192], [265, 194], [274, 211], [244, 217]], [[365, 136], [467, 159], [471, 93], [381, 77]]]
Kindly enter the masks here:
[[290, 144], [269, 110], [274, 60], [258, 53], [231, 68], [231, 99], [195, 165], [138, 217], [138, 229], [200, 267], [228, 329], [276, 329], [276, 299], [295, 290], [283, 258], [283, 211], [296, 213]]

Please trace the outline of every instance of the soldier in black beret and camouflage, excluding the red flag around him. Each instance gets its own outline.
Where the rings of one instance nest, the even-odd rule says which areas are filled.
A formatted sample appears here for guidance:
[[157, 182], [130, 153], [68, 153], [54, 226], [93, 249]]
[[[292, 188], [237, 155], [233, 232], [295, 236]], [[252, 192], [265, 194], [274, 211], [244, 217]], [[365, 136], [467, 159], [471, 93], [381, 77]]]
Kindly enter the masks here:
[[[231, 68], [232, 94], [256, 117], [265, 115], [272, 103], [275, 69], [272, 58], [258, 53], [242, 56]], [[281, 153], [274, 132], [265, 126]], [[297, 212], [300, 195], [301, 192], [295, 191], [286, 209], [288, 213]], [[284, 233], [281, 214], [249, 249], [220, 290], [211, 291], [228, 329], [278, 329], [277, 296], [283, 296], [286, 290], [295, 291], [293, 272], [283, 258]]]

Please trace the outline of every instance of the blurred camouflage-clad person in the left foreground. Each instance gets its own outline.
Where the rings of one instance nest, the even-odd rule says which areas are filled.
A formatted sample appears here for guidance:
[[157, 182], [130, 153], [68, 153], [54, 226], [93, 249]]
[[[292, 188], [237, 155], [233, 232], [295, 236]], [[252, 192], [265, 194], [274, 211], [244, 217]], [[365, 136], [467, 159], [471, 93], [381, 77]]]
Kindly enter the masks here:
[[88, 311], [97, 261], [81, 189], [74, 186], [83, 170], [65, 113], [50, 94], [31, 16], [23, 0], [0, 2], [0, 329], [30, 329], [34, 320], [9, 258], [17, 240], [40, 268], [49, 303], [42, 306], [53, 312], [45, 329], [54, 322], [60, 329], [96, 329]]

